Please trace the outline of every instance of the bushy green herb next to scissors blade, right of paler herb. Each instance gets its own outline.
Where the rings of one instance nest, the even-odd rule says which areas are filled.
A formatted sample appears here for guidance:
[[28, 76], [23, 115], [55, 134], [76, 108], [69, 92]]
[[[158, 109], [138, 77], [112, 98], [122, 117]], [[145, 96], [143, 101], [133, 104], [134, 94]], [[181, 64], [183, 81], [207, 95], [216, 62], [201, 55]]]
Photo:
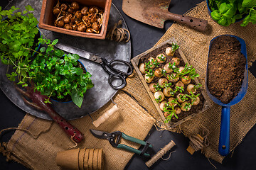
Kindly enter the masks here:
[[46, 103], [50, 102], [51, 96], [62, 99], [69, 95], [81, 107], [85, 92], [93, 84], [91, 74], [84, 72], [78, 65], [79, 55], [67, 55], [62, 50], [55, 50], [54, 45], [58, 39], [50, 42], [41, 37], [38, 40], [47, 47], [41, 47], [31, 63], [31, 72], [28, 73], [36, 85], [36, 90], [48, 96]]

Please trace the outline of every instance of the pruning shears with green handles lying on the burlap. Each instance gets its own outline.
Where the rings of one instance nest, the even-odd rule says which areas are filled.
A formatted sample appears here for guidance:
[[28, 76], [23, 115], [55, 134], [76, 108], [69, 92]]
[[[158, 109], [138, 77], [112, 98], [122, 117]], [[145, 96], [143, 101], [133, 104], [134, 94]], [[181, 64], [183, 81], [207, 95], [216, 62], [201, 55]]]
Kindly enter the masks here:
[[[92, 135], [94, 135], [97, 138], [107, 139], [110, 142], [110, 144], [112, 145], [112, 147], [126, 149], [130, 152], [134, 152], [135, 154], [150, 157], [150, 154], [146, 153], [146, 149], [148, 149], [149, 147], [152, 147], [152, 145], [149, 142], [145, 142], [145, 141], [139, 140], [135, 137], [128, 136], [128, 135], [126, 135], [126, 134], [124, 134], [123, 132], [120, 132], [120, 131], [115, 131], [115, 132], [109, 133], [109, 132], [103, 132], [103, 131], [100, 131], [100, 130], [90, 130], [90, 132], [92, 133]], [[124, 138], [125, 140], [129, 140], [131, 142], [135, 142], [135, 143], [140, 144], [140, 145], [144, 145], [144, 148], [142, 149], [142, 151], [140, 151], [138, 149], [134, 149], [134, 148], [129, 147], [127, 145], [120, 144], [119, 142], [120, 142], [121, 138]]]

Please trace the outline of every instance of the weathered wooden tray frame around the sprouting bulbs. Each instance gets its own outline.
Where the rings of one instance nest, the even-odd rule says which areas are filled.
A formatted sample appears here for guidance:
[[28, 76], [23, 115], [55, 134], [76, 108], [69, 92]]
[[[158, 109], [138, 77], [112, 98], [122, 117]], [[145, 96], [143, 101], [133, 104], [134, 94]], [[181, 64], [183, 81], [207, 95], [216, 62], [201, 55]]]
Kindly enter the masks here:
[[[132, 59], [132, 65], [133, 65], [135, 71], [137, 72], [137, 74], [139, 75], [139, 78], [142, 80], [142, 83], [143, 83], [143, 85], [145, 86], [146, 91], [148, 92], [148, 94], [149, 94], [151, 100], [153, 101], [154, 106], [156, 106], [156, 110], [159, 112], [159, 115], [161, 116], [161, 118], [162, 118], [163, 121], [166, 120], [166, 118], [164, 117], [163, 111], [161, 111], [161, 109], [159, 108], [159, 104], [156, 103], [155, 98], [154, 98], [154, 94], [153, 94], [151, 91], [149, 91], [149, 86], [148, 86], [148, 84], [146, 83], [146, 81], [145, 81], [145, 79], [144, 79], [144, 76], [143, 76], [142, 73], [139, 71], [139, 64], [140, 64], [140, 62], [141, 62], [140, 59], [141, 59], [142, 57], [144, 57], [145, 55], [148, 55], [150, 52], [153, 52], [154, 50], [156, 50], [156, 49], [158, 49], [159, 47], [162, 47], [162, 46], [164, 46], [164, 45], [166, 45], [166, 44], [171, 45], [173, 42], [174, 42], [174, 43], [177, 43], [174, 38], [171, 38], [171, 39], [167, 40], [166, 42], [163, 42], [163, 43], [161, 43], [160, 45], [157, 45], [157, 46], [155, 46], [155, 47], [152, 47], [151, 49], [147, 50], [146, 52], [143, 52], [143, 53], [140, 54], [140, 55], [137, 55], [137, 57], [134, 57], [134, 58]], [[178, 43], [177, 43], [177, 44], [178, 44]], [[181, 51], [181, 47], [178, 47], [178, 53], [181, 55], [181, 58], [183, 59], [183, 62], [188, 63], [188, 60], [186, 60], [185, 55], [183, 55], [183, 52]], [[188, 63], [188, 65], [190, 65], [190, 64]], [[195, 78], [194, 81], [196, 81], [196, 84], [199, 84], [198, 79]], [[202, 108], [202, 110], [201, 110], [200, 112], [198, 112], [198, 113], [201, 113], [201, 112], [203, 112], [203, 111], [206, 111], [208, 108], [210, 108], [210, 101], [208, 101], [208, 98], [207, 98], [207, 95], [206, 95], [206, 91], [203, 90], [202, 88], [200, 88], [199, 90], [200, 90], [200, 92], [201, 92], [201, 94], [202, 94], [202, 96], [203, 96], [203, 98], [204, 98], [204, 101], [203, 101], [203, 108]], [[178, 122], [171, 122], [171, 121], [170, 121], [169, 123], [165, 123], [166, 128], [167, 128], [167, 129], [174, 128], [174, 127], [176, 127], [177, 125], [180, 125], [181, 123], [185, 122], [186, 120], [195, 117], [196, 114], [197, 114], [197, 113], [192, 113], [191, 115], [186, 116], [186, 118], [183, 118], [183, 119], [181, 119], [181, 120], [178, 120]]]

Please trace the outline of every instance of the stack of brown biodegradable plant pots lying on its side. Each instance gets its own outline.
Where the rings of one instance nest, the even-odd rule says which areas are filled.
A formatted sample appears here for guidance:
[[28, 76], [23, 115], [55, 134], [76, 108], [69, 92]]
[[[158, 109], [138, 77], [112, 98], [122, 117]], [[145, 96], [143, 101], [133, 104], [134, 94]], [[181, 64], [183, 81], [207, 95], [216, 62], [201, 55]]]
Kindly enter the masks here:
[[58, 152], [56, 163], [65, 169], [103, 169], [102, 149], [70, 149]]

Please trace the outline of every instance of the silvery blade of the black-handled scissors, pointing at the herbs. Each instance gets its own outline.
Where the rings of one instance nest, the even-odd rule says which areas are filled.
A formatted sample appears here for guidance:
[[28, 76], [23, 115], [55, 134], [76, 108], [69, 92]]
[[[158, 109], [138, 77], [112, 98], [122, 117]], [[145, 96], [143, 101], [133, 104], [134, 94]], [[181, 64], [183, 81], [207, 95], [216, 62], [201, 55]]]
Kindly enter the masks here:
[[82, 58], [91, 60], [92, 62], [97, 62], [97, 63], [102, 62], [101, 57], [98, 57], [97, 55], [94, 55], [91, 52], [87, 52], [87, 51], [81, 50], [77, 47], [73, 47], [71, 45], [64, 45], [62, 43], [58, 43], [55, 45], [55, 47], [58, 47], [58, 49], [63, 50], [65, 52], [69, 52], [71, 54], [77, 54]]

